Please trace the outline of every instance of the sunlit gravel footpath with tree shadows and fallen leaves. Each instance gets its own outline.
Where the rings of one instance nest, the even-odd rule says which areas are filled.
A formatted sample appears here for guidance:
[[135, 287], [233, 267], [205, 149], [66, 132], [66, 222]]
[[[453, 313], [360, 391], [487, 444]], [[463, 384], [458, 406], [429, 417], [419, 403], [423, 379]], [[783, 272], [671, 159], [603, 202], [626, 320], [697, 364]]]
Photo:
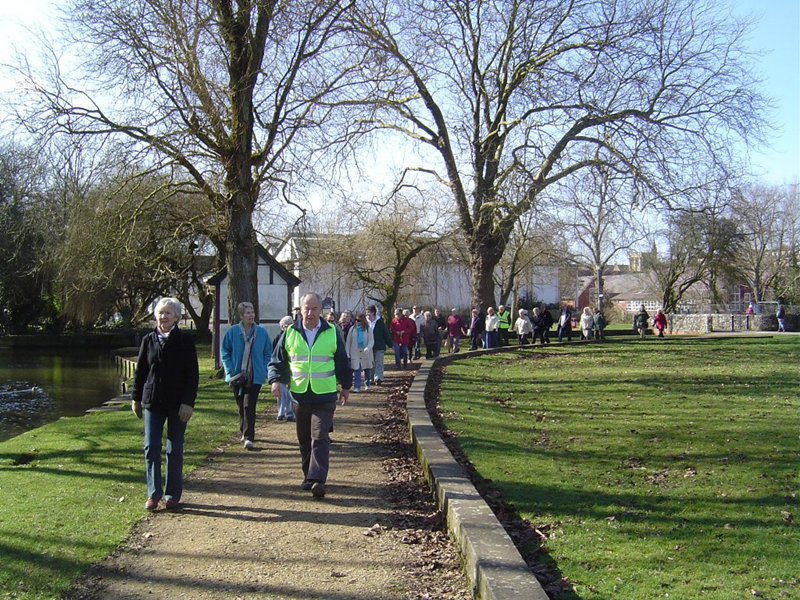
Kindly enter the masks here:
[[221, 448], [183, 511], [145, 516], [65, 598], [470, 599], [408, 443], [413, 372], [386, 376], [337, 409], [324, 499], [300, 490], [294, 425], [262, 392], [255, 450]]

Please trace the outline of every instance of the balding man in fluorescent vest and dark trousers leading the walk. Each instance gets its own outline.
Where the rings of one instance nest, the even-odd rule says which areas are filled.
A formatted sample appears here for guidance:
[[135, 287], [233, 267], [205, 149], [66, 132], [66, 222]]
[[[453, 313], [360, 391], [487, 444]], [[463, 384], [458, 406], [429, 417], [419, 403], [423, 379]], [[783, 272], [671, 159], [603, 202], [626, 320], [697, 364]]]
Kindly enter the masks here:
[[[320, 319], [322, 298], [306, 294], [300, 303], [303, 320], [281, 334], [269, 363], [269, 383], [277, 398], [281, 383], [289, 385], [294, 402], [297, 441], [303, 468], [301, 489], [325, 496], [330, 466], [336, 401], [347, 404], [353, 370], [341, 333]], [[341, 392], [337, 393], [337, 383]]]

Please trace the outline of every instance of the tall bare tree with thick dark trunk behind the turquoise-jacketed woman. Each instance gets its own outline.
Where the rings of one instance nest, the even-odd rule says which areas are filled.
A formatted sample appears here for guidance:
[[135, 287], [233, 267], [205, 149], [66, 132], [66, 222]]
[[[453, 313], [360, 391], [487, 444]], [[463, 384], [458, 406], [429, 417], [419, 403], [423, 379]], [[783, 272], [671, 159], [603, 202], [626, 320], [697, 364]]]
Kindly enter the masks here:
[[65, 74], [55, 52], [46, 77], [23, 66], [34, 102], [23, 122], [126, 138], [177, 190], [205, 195], [222, 222], [229, 304], [258, 306], [253, 211], [264, 186], [291, 178], [298, 139], [327, 120], [320, 100], [349, 58], [331, 41], [350, 5], [72, 0], [65, 28], [81, 71]]

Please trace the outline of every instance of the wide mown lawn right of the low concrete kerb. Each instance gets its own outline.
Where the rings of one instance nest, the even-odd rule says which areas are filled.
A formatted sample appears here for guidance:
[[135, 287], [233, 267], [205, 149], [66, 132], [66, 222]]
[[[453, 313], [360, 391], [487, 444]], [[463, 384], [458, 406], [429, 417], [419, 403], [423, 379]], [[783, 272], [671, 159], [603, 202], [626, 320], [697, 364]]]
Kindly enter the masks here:
[[451, 363], [441, 403], [561, 597], [800, 598], [798, 358], [793, 336], [548, 347]]

